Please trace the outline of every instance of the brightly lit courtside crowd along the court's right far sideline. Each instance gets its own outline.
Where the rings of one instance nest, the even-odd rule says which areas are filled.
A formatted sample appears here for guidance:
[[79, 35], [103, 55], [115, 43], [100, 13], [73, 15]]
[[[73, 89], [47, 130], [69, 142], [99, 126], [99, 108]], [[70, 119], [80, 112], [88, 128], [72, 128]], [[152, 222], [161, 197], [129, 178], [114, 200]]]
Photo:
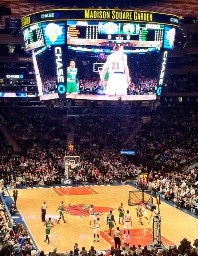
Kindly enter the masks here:
[[164, 200], [173, 201], [177, 208], [198, 214], [198, 168], [188, 168], [181, 173], [151, 171], [147, 188]]

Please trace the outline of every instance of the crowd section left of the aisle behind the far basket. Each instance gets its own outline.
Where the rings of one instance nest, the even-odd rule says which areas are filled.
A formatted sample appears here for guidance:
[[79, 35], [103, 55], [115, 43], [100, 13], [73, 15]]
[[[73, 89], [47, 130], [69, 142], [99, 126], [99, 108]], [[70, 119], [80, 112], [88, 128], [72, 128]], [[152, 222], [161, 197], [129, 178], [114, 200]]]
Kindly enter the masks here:
[[[20, 177], [8, 177], [16, 183], [32, 186], [33, 184], [52, 184], [61, 182], [58, 171], [64, 162], [65, 144], [68, 132], [68, 119], [64, 113], [53, 110], [32, 111], [22, 110], [20, 116], [8, 111], [7, 129], [22, 148], [22, 156], [15, 159], [20, 167]], [[40, 177], [38, 179], [38, 176]]]

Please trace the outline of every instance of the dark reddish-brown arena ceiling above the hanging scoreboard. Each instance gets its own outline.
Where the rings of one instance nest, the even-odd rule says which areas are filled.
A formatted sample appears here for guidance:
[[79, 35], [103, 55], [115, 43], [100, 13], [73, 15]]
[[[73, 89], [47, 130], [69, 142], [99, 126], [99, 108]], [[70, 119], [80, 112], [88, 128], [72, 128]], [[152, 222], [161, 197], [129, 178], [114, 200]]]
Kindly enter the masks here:
[[125, 8], [176, 14], [183, 17], [198, 16], [198, 0], [1, 0], [1, 6], [11, 9], [12, 16], [22, 17], [33, 12], [56, 8]]

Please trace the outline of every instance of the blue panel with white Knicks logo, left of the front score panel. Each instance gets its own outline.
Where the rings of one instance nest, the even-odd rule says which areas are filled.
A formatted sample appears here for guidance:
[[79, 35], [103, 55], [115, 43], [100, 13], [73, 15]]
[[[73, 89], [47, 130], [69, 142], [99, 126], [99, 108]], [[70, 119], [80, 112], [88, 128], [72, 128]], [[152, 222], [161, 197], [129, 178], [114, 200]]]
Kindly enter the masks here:
[[46, 45], [65, 44], [65, 23], [42, 22], [42, 28]]

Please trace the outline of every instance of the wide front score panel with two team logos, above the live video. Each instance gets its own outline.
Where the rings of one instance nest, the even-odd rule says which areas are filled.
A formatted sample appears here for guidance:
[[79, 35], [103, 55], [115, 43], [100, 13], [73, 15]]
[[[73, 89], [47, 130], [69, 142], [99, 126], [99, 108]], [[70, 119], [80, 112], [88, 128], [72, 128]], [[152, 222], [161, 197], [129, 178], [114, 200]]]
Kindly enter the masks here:
[[67, 44], [162, 47], [164, 25], [129, 22], [67, 21]]

